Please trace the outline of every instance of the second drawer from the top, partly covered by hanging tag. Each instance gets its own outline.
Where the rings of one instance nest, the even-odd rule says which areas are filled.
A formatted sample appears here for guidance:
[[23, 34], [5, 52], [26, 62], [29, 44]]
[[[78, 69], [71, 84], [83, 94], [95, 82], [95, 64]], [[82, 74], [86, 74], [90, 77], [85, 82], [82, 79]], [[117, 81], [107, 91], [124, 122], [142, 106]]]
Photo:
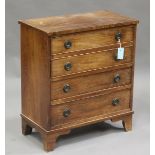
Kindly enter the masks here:
[[132, 46], [125, 47], [125, 58], [116, 60], [117, 48], [97, 51], [84, 55], [75, 55], [51, 61], [52, 76], [65, 76], [81, 72], [102, 69], [132, 61]]

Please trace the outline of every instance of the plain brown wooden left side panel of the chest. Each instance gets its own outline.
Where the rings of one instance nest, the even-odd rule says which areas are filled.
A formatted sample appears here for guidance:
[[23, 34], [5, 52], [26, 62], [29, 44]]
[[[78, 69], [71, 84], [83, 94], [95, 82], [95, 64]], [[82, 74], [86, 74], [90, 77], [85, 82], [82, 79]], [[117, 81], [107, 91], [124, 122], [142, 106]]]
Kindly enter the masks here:
[[48, 36], [21, 25], [22, 114], [48, 129], [50, 53]]

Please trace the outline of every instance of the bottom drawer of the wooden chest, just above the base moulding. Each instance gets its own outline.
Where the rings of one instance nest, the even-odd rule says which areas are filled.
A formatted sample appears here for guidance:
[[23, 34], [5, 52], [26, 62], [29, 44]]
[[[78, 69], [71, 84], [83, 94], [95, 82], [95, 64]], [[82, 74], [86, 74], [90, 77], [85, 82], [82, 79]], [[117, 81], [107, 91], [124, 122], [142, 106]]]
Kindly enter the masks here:
[[130, 89], [125, 89], [70, 103], [53, 105], [51, 124], [57, 126], [80, 119], [129, 110], [130, 95]]

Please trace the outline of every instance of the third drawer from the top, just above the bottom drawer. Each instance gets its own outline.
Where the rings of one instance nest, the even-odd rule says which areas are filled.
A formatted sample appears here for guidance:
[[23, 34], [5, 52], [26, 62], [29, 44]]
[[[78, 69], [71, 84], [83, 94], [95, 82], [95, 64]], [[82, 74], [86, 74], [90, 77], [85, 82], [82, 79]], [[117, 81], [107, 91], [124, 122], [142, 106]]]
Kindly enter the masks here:
[[82, 94], [126, 85], [130, 82], [131, 68], [55, 81], [51, 83], [51, 100], [58, 100], [57, 102], [61, 102], [63, 98], [71, 100]]

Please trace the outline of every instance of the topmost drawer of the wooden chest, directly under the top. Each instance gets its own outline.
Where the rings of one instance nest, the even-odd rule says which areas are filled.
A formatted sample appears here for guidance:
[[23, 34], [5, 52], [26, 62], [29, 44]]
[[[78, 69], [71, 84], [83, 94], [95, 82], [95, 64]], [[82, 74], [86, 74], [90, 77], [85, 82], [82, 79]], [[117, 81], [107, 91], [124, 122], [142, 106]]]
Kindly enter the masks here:
[[55, 55], [116, 44], [118, 32], [122, 43], [133, 41], [133, 27], [117, 27], [56, 37], [51, 41], [51, 51]]

